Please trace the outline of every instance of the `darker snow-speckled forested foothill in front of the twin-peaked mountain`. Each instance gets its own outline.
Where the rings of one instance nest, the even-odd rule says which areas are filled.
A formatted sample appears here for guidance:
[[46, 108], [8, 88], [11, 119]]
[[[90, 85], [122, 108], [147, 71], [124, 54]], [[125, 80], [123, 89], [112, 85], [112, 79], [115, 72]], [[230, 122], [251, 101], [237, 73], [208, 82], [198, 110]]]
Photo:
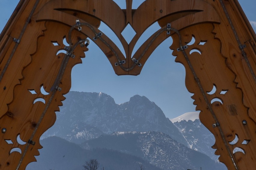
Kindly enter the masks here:
[[205, 154], [194, 151], [162, 132], [115, 132], [82, 144], [86, 149], [107, 148], [142, 157], [165, 170], [202, 169], [224, 170]]

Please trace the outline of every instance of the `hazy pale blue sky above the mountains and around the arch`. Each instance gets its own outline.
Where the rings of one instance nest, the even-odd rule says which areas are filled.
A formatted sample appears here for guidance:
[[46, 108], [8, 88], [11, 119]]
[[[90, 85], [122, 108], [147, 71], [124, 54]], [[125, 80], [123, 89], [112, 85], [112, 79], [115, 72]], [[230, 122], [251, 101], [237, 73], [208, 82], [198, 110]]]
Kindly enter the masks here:
[[[115, 1], [121, 8], [125, 8], [125, 0]], [[134, 0], [133, 7], [138, 7], [143, 1]], [[256, 30], [256, 0], [239, 2]], [[0, 30], [17, 3], [18, 0], [0, 0]], [[115, 42], [115, 37], [107, 27], [102, 25], [99, 29]], [[154, 24], [143, 37], [150, 36], [158, 29], [159, 26]], [[140, 75], [117, 76], [104, 53], [92, 42], [83, 64], [73, 68], [71, 91], [103, 92], [113, 97], [117, 104], [127, 102], [130, 97], [139, 94], [155, 102], [169, 118], [195, 111], [190, 98], [192, 94], [187, 91], [184, 83], [185, 69], [180, 63], [174, 62], [175, 57], [169, 49], [171, 44], [171, 38], [165, 40], [149, 57]]]

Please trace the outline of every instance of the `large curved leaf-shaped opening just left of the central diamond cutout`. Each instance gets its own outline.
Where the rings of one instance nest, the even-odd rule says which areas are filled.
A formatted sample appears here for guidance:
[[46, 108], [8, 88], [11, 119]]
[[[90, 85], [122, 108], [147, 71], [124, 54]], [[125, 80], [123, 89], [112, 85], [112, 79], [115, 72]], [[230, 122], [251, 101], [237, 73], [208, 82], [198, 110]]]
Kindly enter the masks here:
[[[123, 53], [123, 56], [126, 56], [123, 45], [120, 42], [120, 39], [117, 37], [117, 35], [114, 33], [114, 31], [111, 30], [110, 27], [108, 27], [107, 24], [105, 24], [104, 22], [101, 21], [98, 29], [101, 30], [109, 39], [111, 39], [111, 41], [113, 41], [115, 43], [115, 45]], [[93, 41], [91, 41], [91, 43], [93, 43]]]

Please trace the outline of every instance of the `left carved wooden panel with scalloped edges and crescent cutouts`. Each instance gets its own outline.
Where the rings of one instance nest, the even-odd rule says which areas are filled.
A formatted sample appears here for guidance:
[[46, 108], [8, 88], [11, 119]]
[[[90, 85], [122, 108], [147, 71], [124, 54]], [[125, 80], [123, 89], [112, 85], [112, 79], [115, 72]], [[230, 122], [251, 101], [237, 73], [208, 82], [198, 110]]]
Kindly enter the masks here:
[[[2, 139], [13, 142], [13, 144], [8, 144], [5, 140], [0, 141], [0, 145], [9, 150], [8, 152], [2, 152], [2, 156], [5, 154], [3, 156], [5, 159], [2, 159], [0, 164], [4, 169], [15, 169], [18, 165], [17, 161], [21, 160], [24, 152], [26, 154], [24, 154], [20, 169], [25, 169], [28, 163], [36, 161], [34, 156], [39, 155], [38, 149], [42, 148], [39, 138], [54, 124], [56, 120], [55, 111], [59, 111], [58, 106], [62, 105], [61, 101], [65, 99], [63, 94], [66, 94], [71, 87], [71, 69], [74, 65], [81, 63], [81, 57], [84, 57], [84, 51], [87, 50], [85, 46], [80, 47], [80, 45], [74, 50], [75, 58], [69, 59], [65, 74], [59, 85], [61, 89], [57, 90], [53, 96], [53, 100], [39, 125], [38, 121], [53, 93], [51, 88], [65, 57], [65, 53], [57, 54], [57, 52], [64, 49], [65, 45], [62, 44], [62, 41], [70, 28], [53, 22], [46, 22], [45, 26], [44, 36], [39, 37], [37, 41], [37, 51], [32, 54], [31, 63], [22, 72], [24, 78], [21, 84], [14, 88], [14, 99], [8, 105], [8, 114], [4, 114], [0, 119], [1, 127], [6, 128], [6, 132], [2, 134]], [[61, 28], [61, 31], [59, 31], [59, 28]], [[73, 42], [77, 42], [81, 37], [86, 38], [78, 31], [72, 33]], [[56, 42], [57, 45], [54, 45], [53, 42]], [[9, 122], [12, 122], [12, 124], [10, 125]], [[35, 144], [29, 144], [28, 141], [35, 129], [36, 134], [32, 138]], [[20, 139], [26, 142], [25, 145], [20, 145], [15, 140], [18, 134], [20, 134]], [[21, 153], [12, 152], [13, 148], [19, 148]]]

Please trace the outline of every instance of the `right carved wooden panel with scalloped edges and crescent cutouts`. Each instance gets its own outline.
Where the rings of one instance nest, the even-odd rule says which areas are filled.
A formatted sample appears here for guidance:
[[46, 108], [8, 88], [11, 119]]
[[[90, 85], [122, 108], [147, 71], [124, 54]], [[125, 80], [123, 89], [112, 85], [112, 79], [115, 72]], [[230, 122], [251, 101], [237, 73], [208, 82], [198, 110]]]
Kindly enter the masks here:
[[[187, 61], [182, 53], [176, 50], [179, 48], [176, 35], [173, 36], [174, 43], [171, 46], [174, 50], [173, 55], [177, 56], [175, 61], [181, 62], [186, 69], [186, 87], [190, 93], [194, 93], [192, 98], [195, 100], [194, 104], [197, 105], [196, 109], [201, 111], [201, 122], [215, 136], [216, 142], [213, 148], [217, 149], [215, 154], [220, 155], [219, 160], [225, 163], [228, 169], [234, 169], [234, 163], [237, 164], [237, 168], [253, 169], [255, 163], [249, 165], [246, 162], [256, 156], [253, 152], [256, 149], [255, 146], [248, 142], [256, 140], [255, 123], [248, 117], [248, 108], [242, 102], [242, 91], [236, 88], [236, 83], [233, 82], [235, 75], [227, 67], [227, 62], [220, 53], [221, 44], [218, 39], [215, 39], [212, 30], [212, 24], [201, 24], [182, 30], [181, 34], [184, 44], [190, 42], [192, 37], [195, 39], [194, 44], [188, 45], [185, 50], [190, 53], [189, 60], [208, 101], [210, 101], [217, 122], [204, 101]], [[201, 42], [206, 43], [201, 45]], [[193, 52], [193, 50], [196, 51]], [[222, 129], [225, 141], [221, 138], [218, 128]], [[236, 135], [239, 139], [238, 142], [230, 144], [229, 142], [233, 141]], [[227, 143], [227, 146], [224, 143]], [[226, 147], [230, 150], [234, 161]], [[237, 152], [237, 150], [239, 151]]]

